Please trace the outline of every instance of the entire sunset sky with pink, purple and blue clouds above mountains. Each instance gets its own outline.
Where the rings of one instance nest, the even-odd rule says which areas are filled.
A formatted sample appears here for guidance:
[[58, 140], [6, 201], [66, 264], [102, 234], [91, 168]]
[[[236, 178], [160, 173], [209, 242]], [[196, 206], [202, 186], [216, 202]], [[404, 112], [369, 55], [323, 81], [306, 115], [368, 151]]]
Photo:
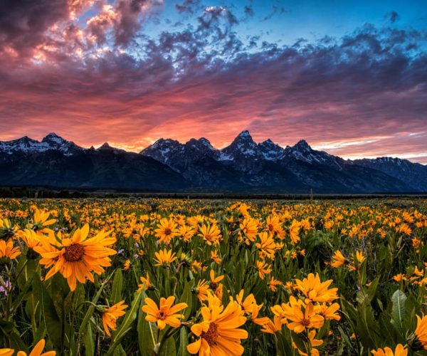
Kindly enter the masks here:
[[427, 164], [426, 1], [0, 2], [0, 140], [220, 148], [246, 129]]

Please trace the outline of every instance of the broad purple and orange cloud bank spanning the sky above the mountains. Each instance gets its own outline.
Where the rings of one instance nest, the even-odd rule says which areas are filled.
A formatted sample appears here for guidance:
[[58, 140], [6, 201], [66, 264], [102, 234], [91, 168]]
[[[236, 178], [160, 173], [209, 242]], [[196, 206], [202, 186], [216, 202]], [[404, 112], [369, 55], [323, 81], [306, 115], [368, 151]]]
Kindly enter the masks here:
[[[104, 10], [112, 33], [121, 33], [115, 26], [123, 14], [130, 16], [130, 31], [117, 44], [132, 43], [132, 16], [144, 4]], [[29, 128], [43, 135], [39, 127], [48, 120], [49, 130], [81, 145], [139, 142], [137, 150], [150, 137], [186, 140], [206, 130], [221, 146], [248, 128], [256, 140], [287, 145], [305, 138], [341, 155], [426, 151], [425, 32], [367, 25], [343, 38], [290, 46], [264, 41], [248, 51], [228, 11], [207, 7], [198, 28], [139, 38], [139, 58], [108, 50], [82, 58], [58, 52], [60, 61], [36, 65], [5, 62], [0, 131], [10, 138]], [[65, 32], [68, 42], [84, 41], [79, 28]]]

